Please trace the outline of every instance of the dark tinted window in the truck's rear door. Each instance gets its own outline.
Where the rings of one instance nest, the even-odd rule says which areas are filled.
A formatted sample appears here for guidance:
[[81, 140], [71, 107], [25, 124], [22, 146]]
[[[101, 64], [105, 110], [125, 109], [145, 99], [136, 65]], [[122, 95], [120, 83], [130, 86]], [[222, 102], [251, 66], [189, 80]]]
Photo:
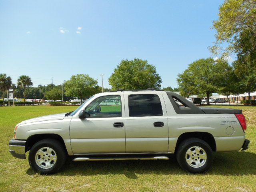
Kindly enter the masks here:
[[155, 94], [128, 96], [130, 117], [163, 115], [160, 98]]

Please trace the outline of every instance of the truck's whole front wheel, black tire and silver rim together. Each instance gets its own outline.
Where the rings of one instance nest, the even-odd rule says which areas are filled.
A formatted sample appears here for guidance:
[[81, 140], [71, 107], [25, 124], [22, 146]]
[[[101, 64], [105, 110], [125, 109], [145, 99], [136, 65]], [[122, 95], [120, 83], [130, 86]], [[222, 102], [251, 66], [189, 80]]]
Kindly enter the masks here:
[[34, 171], [40, 174], [52, 174], [60, 170], [66, 157], [66, 151], [60, 142], [44, 139], [32, 146], [28, 161]]

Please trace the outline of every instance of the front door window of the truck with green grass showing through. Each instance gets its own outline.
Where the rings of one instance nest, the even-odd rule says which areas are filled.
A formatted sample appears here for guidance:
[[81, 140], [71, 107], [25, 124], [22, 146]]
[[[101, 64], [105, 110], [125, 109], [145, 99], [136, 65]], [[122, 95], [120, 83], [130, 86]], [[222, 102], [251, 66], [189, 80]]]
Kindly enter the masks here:
[[90, 118], [121, 117], [121, 96], [110, 95], [96, 98], [86, 108]]

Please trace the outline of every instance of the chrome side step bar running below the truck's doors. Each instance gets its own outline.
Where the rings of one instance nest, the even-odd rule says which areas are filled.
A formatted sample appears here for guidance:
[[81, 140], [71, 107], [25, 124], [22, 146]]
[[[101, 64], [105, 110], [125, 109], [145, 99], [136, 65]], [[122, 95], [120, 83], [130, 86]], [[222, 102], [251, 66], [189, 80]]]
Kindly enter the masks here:
[[109, 157], [109, 158], [95, 158], [95, 157], [77, 157], [73, 161], [109, 161], [109, 160], [169, 160], [166, 156], [155, 157]]

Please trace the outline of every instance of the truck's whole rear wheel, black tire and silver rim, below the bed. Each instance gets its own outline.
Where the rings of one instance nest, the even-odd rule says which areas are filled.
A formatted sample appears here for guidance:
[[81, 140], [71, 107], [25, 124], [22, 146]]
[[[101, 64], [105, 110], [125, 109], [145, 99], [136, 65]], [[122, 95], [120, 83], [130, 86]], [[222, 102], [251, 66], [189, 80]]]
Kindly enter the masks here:
[[176, 158], [183, 169], [201, 173], [212, 165], [212, 148], [202, 139], [190, 138], [179, 144]]

